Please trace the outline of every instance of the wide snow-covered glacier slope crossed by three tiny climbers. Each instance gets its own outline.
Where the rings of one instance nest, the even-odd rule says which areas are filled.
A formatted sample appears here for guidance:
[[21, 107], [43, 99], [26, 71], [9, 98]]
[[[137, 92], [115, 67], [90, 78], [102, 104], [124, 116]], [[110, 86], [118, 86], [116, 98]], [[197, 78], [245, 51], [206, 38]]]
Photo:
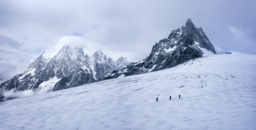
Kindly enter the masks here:
[[1, 102], [0, 129], [254, 129], [255, 79], [256, 55], [204, 56]]

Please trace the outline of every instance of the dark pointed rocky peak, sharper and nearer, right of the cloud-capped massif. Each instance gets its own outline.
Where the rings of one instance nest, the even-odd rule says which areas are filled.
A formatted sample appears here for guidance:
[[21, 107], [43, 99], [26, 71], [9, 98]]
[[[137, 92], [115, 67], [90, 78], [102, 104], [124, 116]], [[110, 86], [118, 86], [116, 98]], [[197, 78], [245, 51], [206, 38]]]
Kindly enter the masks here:
[[151, 53], [146, 59], [127, 64], [126, 68], [114, 71], [104, 79], [162, 70], [188, 60], [200, 58], [203, 55], [215, 53], [214, 47], [203, 29], [197, 29], [193, 22], [188, 19], [184, 26], [171, 31], [168, 38], [164, 38], [153, 45]]

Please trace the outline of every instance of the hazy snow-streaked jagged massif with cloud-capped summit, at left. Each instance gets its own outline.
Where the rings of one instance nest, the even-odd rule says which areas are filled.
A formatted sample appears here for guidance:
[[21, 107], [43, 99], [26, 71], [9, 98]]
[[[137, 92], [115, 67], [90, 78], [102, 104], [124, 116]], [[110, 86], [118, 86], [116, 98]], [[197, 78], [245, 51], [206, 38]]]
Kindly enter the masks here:
[[[13, 88], [15, 91], [39, 91], [46, 87], [46, 92], [63, 90], [95, 82], [113, 70], [124, 68], [127, 63], [123, 57], [114, 62], [101, 51], [90, 58], [84, 55], [82, 48], [63, 46], [54, 56], [42, 53], [23, 74], [2, 83], [0, 93]], [[3, 99], [3, 95], [0, 96]]]

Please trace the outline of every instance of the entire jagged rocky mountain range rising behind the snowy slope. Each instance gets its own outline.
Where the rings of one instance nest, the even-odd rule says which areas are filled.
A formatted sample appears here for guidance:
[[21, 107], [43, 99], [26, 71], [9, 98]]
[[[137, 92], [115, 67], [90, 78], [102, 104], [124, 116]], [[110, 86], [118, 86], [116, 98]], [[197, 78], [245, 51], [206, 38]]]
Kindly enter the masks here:
[[[184, 26], [153, 45], [149, 56], [129, 63], [126, 58], [113, 61], [102, 51], [91, 57], [82, 48], [63, 46], [57, 54], [42, 53], [22, 74], [0, 85], [1, 101], [5, 91], [33, 90], [47, 93], [111, 78], [163, 70], [178, 64], [216, 54], [202, 28], [188, 19]], [[11, 98], [11, 97], [10, 97]]]

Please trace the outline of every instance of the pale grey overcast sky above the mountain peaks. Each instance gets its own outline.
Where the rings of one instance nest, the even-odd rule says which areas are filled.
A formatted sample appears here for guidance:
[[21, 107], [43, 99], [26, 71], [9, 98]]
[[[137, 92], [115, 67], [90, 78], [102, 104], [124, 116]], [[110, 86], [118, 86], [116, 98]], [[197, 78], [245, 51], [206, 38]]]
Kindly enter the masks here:
[[213, 45], [256, 54], [255, 7], [253, 0], [0, 0], [0, 78], [65, 44], [89, 55], [102, 50], [114, 60], [141, 60], [188, 18]]

